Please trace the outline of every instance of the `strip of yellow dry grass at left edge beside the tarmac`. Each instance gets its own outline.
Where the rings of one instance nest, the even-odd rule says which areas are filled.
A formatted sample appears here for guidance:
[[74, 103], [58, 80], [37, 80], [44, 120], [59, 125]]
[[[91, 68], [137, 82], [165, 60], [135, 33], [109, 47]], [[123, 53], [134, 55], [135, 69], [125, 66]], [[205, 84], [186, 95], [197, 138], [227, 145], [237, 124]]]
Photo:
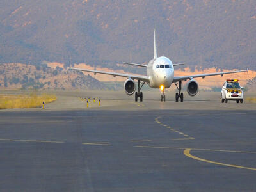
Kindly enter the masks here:
[[36, 108], [45, 104], [54, 102], [56, 95], [36, 95], [31, 93], [30, 95], [0, 95], [0, 109], [8, 108]]

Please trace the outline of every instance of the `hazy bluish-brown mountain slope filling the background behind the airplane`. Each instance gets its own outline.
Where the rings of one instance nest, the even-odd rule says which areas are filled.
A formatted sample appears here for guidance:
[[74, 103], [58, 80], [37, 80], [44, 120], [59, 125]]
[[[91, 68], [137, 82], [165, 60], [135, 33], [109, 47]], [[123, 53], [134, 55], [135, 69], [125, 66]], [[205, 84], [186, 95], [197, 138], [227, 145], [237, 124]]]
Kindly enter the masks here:
[[256, 70], [256, 1], [1, 0], [0, 62], [148, 62]]

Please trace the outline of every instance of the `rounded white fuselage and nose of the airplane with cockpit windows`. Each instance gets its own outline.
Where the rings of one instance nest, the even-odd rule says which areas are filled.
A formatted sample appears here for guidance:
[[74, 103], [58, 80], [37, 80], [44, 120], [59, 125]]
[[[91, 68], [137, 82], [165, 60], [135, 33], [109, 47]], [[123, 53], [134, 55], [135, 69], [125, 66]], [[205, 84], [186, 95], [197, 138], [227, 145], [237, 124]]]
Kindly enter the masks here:
[[170, 88], [174, 78], [173, 63], [169, 58], [161, 56], [148, 63], [147, 76], [151, 88]]

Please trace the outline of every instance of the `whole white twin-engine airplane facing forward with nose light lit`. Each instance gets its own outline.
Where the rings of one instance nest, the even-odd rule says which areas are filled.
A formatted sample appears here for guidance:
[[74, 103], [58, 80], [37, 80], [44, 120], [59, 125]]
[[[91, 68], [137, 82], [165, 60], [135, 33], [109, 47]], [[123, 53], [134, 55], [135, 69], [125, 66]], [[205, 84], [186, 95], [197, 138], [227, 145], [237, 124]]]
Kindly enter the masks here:
[[[127, 77], [127, 80], [124, 83], [124, 90], [127, 95], [133, 95], [136, 88], [134, 80], [138, 81], [138, 92], [135, 92], [135, 101], [138, 101], [138, 97], [140, 97], [140, 101], [143, 101], [143, 93], [141, 92], [141, 88], [145, 83], [151, 88], [159, 88], [161, 90], [161, 101], [165, 101], [164, 89], [170, 88], [172, 83], [175, 84], [177, 87], [178, 93], [175, 95], [176, 102], [180, 101], [183, 102], [183, 93], [181, 93], [181, 84], [182, 81], [188, 81], [187, 83], [187, 92], [190, 96], [195, 96], [198, 93], [198, 83], [194, 80], [197, 77], [204, 77], [206, 76], [223, 76], [224, 74], [233, 74], [238, 72], [246, 72], [247, 70], [236, 70], [230, 72], [216, 72], [211, 74], [198, 74], [198, 75], [191, 75], [191, 76], [174, 76], [174, 68], [177, 65], [184, 65], [184, 63], [172, 63], [169, 58], [164, 56], [157, 57], [157, 50], [156, 50], [156, 33], [154, 29], [154, 58], [149, 61], [148, 65], [141, 65], [137, 63], [124, 63], [128, 65], [135, 65], [138, 67], [145, 67], [147, 68], [147, 76], [136, 75], [136, 74], [123, 74], [123, 73], [116, 73], [116, 72], [106, 72], [100, 70], [90, 70], [90, 69], [82, 69], [82, 68], [72, 68], [71, 70], [79, 70], [84, 72], [92, 72], [96, 74], [107, 74], [110, 76], [120, 76], [120, 77]], [[140, 86], [141, 83], [141, 86]]]

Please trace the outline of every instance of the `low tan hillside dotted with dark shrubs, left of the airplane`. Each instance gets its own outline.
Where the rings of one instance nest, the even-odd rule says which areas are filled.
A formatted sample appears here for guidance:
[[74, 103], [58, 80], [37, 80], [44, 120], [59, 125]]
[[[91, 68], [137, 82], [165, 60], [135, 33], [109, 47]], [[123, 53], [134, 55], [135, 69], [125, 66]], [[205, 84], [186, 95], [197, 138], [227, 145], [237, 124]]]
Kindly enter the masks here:
[[104, 89], [105, 86], [90, 75], [61, 67], [8, 63], [0, 65], [0, 88], [74, 90]]

